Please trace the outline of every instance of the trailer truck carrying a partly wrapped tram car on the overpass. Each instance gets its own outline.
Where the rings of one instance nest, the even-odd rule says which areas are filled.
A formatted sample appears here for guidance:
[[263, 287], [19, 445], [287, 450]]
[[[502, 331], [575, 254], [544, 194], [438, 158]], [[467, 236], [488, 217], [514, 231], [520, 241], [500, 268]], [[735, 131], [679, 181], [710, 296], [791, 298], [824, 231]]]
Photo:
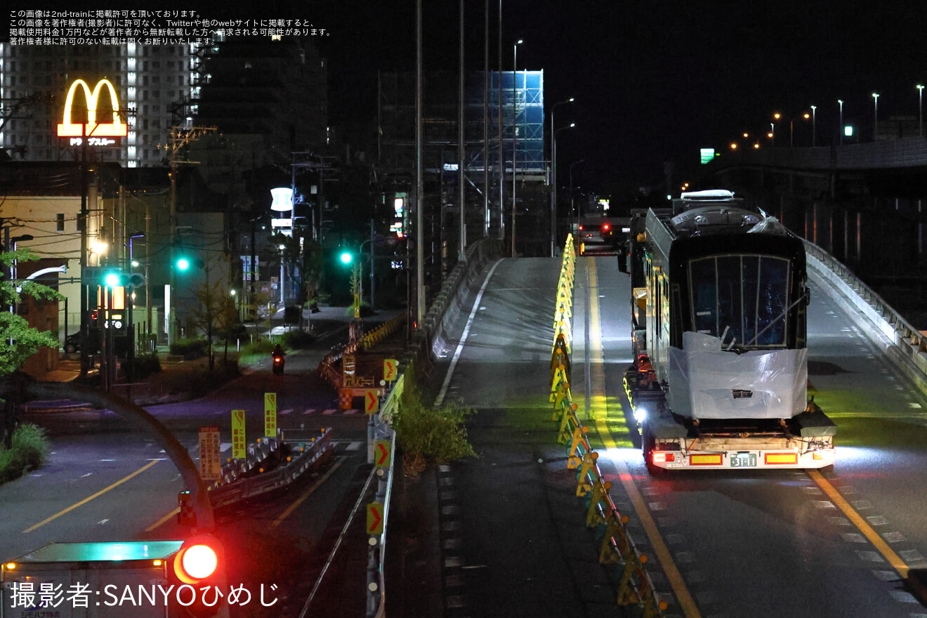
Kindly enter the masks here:
[[836, 425], [807, 399], [806, 255], [724, 189], [630, 221], [625, 391], [651, 473], [831, 468]]

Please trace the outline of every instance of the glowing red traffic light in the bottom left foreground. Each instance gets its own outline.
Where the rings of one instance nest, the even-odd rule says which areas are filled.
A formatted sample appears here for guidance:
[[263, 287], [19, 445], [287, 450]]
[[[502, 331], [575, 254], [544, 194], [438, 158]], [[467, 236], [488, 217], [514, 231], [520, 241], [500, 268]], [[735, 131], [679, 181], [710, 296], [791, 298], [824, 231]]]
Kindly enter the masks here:
[[[197, 535], [184, 541], [184, 545], [171, 558], [169, 570], [176, 577], [177, 602], [181, 616], [208, 618], [215, 616], [225, 604], [222, 596], [227, 592], [225, 558], [222, 544], [215, 536]], [[222, 591], [222, 595], [219, 591]]]

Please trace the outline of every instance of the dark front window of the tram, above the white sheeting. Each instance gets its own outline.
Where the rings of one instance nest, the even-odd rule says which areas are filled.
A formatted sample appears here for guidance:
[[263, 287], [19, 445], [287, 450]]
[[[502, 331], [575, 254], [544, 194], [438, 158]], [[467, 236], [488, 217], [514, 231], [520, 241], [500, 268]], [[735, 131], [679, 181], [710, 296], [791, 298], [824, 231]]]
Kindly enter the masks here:
[[789, 262], [730, 255], [689, 263], [692, 328], [747, 347], [784, 347]]

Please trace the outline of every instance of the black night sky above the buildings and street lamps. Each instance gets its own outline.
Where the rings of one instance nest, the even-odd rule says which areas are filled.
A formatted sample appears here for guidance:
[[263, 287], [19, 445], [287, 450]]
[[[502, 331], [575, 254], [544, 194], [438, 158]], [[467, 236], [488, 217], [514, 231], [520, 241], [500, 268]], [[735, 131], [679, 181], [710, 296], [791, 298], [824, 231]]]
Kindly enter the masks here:
[[[315, 41], [329, 59], [333, 123], [363, 115], [372, 122], [376, 70], [415, 68], [414, 0], [117, 4], [196, 8], [217, 18], [293, 17], [327, 29]], [[423, 5], [425, 70], [455, 70], [459, 3]], [[489, 0], [490, 69], [498, 67], [499, 5]], [[466, 0], [468, 69], [483, 68], [484, 6]], [[558, 127], [578, 125], [558, 133], [559, 170], [584, 158], [578, 183], [603, 192], [619, 183], [658, 185], [666, 161], [675, 164], [675, 180], [686, 180], [699, 147], [765, 134], [774, 111], [789, 119], [818, 106], [818, 144], [828, 144], [842, 98], [844, 121], [869, 136], [872, 92], [880, 93], [880, 120], [916, 118], [915, 84], [927, 83], [923, 0], [502, 0], [503, 70], [512, 69], [518, 38], [525, 40], [518, 69], [544, 69], [548, 105], [577, 98], [557, 108]], [[777, 145], [787, 132], [786, 120]], [[810, 145], [809, 124], [796, 122], [794, 135], [795, 145]]]

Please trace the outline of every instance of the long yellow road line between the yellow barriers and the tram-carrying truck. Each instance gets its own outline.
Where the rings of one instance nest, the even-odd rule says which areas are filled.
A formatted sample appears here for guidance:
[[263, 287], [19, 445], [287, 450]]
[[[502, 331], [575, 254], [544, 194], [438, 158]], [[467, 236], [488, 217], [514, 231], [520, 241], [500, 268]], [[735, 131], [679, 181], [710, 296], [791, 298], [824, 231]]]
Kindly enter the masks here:
[[[602, 331], [599, 323], [599, 294], [595, 273], [595, 259], [587, 259], [586, 263], [589, 265], [590, 286], [590, 289], [587, 291], [590, 305], [589, 343], [590, 382], [592, 385], [590, 407], [592, 408], [592, 418], [596, 420], [595, 428], [598, 430], [605, 448], [618, 448], [615, 438], [612, 437], [612, 433], [608, 429], [608, 424], [605, 423], [608, 418], [608, 410], [605, 403], [605, 373], [603, 370]], [[647, 510], [643, 498], [641, 498], [641, 492], [638, 491], [637, 486], [634, 485], [628, 467], [625, 465], [625, 462], [619, 458], [614, 458], [613, 461], [618, 472], [618, 478], [621, 479], [621, 485], [624, 486], [625, 491], [628, 492], [631, 504], [634, 505], [634, 511], [637, 512], [638, 518], [641, 520], [641, 525], [643, 525], [644, 532], [647, 533], [647, 536], [650, 538], [650, 543], [654, 547], [656, 559], [660, 561], [663, 572], [667, 574], [667, 580], [669, 580], [669, 585], [673, 588], [673, 594], [676, 595], [679, 607], [685, 612], [687, 618], [701, 618], [702, 614], [695, 606], [695, 600], [692, 599], [689, 588], [686, 587], [682, 579], [682, 574], [679, 573], [679, 568], [677, 568], [676, 562], [673, 561], [673, 557], [669, 553], [667, 544], [664, 542], [663, 537], [660, 536], [660, 531], [656, 527], [654, 518], [651, 516], [650, 511]]]

